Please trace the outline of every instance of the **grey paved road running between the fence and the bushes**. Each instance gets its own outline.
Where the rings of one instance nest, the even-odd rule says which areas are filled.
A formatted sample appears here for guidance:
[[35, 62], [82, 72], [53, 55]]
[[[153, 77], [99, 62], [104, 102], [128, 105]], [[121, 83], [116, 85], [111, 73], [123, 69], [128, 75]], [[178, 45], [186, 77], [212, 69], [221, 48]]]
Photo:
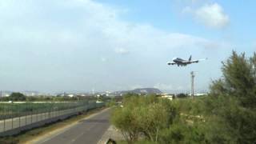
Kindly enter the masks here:
[[109, 128], [110, 110], [104, 110], [91, 118], [78, 122], [70, 129], [46, 139], [42, 144], [97, 144]]

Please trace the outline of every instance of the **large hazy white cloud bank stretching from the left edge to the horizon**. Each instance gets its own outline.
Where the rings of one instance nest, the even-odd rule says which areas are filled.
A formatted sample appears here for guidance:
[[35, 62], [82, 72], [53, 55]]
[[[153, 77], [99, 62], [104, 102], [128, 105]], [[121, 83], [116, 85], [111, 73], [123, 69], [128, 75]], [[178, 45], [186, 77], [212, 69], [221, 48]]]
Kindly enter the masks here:
[[[162, 75], [167, 58], [194, 51], [198, 54], [215, 43], [122, 21], [118, 10], [91, 0], [8, 1], [2, 7], [1, 2], [7, 1], [0, 1], [0, 16], [5, 19], [0, 23], [0, 65], [6, 74], [0, 86], [16, 82], [16, 71], [21, 78], [17, 87], [27, 86], [22, 83], [26, 82], [34, 90], [82, 90], [92, 87], [92, 82], [97, 82], [100, 90], [134, 82], [151, 86], [155, 82], [150, 73]], [[130, 54], [125, 59], [114, 53]], [[145, 82], [149, 78], [152, 82]]]

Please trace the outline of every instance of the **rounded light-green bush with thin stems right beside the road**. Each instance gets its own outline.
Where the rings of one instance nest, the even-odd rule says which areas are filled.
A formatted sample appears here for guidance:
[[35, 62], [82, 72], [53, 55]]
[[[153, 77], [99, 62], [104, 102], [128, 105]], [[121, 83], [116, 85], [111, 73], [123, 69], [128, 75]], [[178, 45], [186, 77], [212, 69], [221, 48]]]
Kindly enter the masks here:
[[168, 99], [160, 99], [152, 94], [129, 94], [124, 98], [123, 107], [114, 110], [111, 122], [121, 130], [129, 143], [137, 141], [139, 134], [150, 142], [158, 142], [160, 131], [170, 126], [175, 116], [176, 110]]

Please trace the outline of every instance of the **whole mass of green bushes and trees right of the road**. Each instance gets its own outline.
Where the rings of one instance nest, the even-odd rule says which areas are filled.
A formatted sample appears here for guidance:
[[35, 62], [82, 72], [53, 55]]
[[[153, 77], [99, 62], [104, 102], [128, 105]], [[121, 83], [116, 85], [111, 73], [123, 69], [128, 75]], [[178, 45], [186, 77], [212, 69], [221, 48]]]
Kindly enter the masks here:
[[256, 54], [233, 54], [200, 98], [126, 94], [111, 122], [127, 143], [256, 143]]

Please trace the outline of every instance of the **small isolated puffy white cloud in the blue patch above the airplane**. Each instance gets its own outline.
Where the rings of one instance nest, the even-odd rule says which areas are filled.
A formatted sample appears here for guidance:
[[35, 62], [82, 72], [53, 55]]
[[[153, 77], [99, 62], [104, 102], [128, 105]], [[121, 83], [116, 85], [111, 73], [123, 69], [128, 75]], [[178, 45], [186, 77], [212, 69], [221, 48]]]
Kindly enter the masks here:
[[186, 6], [182, 13], [193, 14], [198, 22], [211, 28], [222, 29], [230, 23], [229, 15], [225, 14], [222, 6], [218, 3], [205, 4], [197, 9]]

